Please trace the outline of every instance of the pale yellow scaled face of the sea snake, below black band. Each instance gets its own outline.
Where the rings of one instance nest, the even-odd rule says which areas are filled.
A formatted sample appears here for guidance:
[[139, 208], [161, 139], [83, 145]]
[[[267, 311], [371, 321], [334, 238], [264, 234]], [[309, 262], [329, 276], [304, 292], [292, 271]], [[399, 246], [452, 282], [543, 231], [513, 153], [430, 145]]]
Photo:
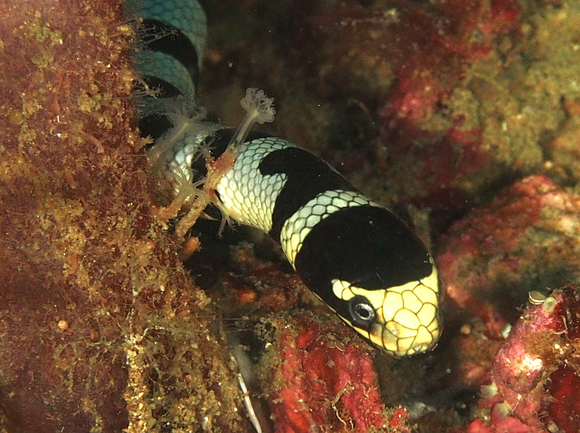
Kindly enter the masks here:
[[[433, 260], [430, 259], [431, 263]], [[343, 318], [362, 336], [396, 356], [430, 350], [439, 339], [438, 277], [431, 275], [386, 290], [365, 290], [347, 281], [332, 280], [332, 291], [345, 301], [364, 296], [375, 306], [376, 323], [368, 331]]]

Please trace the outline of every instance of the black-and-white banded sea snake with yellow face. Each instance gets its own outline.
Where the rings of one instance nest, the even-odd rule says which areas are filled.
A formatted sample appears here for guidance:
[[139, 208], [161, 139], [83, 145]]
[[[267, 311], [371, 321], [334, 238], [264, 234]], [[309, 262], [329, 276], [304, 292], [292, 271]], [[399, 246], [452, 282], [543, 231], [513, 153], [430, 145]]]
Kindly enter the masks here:
[[[172, 126], [160, 115], [164, 98], [181, 95], [193, 103], [205, 12], [197, 0], [132, 0], [127, 11], [140, 21], [138, 71], [149, 88], [161, 91], [158, 99], [146, 99], [140, 130], [160, 142]], [[218, 158], [236, 133], [200, 125], [167, 151], [170, 175], [193, 173], [200, 144], [209, 144]], [[426, 246], [322, 159], [290, 141], [251, 133], [237, 145], [215, 191], [226, 216], [267, 232], [306, 286], [362, 337], [395, 356], [435, 347], [440, 289]]]

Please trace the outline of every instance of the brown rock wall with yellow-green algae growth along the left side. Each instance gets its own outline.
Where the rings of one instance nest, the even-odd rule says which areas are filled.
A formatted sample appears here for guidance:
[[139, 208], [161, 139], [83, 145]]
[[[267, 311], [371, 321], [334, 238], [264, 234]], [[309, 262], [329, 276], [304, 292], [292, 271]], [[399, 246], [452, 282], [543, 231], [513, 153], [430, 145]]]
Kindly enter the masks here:
[[247, 431], [213, 304], [150, 215], [121, 3], [0, 14], [0, 430]]

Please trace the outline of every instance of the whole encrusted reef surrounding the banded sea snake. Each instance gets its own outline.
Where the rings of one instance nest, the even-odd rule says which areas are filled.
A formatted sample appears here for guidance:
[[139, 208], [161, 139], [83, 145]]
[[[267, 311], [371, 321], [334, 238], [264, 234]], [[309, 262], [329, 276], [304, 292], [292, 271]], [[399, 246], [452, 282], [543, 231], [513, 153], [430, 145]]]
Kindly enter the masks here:
[[[280, 260], [248, 249], [219, 277], [227, 302], [194, 286], [153, 216], [121, 6], [8, 1], [0, 428], [248, 431], [219, 316], [250, 311], [276, 431], [580, 430], [579, 295], [563, 283], [579, 271], [578, 2], [208, 8], [199, 101], [210, 113], [235, 125], [232, 95], [266, 89], [278, 108], [266, 130], [324, 154], [385, 204], [428, 208], [448, 287], [444, 340], [374, 367], [371, 348]], [[531, 290], [545, 299], [524, 309]], [[383, 399], [411, 395], [428, 410], [385, 405], [376, 369], [397, 376]], [[466, 409], [448, 396], [481, 385]]]

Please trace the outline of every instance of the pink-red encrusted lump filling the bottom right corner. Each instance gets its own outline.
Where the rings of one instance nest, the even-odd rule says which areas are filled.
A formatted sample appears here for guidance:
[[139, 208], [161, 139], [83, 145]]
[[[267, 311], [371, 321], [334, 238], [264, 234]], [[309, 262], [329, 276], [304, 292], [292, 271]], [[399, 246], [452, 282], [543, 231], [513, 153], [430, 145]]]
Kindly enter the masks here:
[[580, 340], [578, 286], [554, 290], [531, 305], [495, 356], [490, 384], [482, 387], [481, 409], [489, 421], [473, 420], [467, 433], [578, 432], [580, 429]]

